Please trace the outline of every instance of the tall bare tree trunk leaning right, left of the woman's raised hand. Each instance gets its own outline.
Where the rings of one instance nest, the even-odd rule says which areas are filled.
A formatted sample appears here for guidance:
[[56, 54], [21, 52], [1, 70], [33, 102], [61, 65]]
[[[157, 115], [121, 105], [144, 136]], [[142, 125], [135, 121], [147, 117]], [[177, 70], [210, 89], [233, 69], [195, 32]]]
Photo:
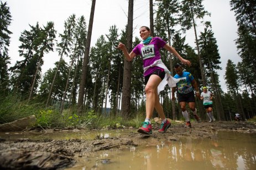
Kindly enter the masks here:
[[82, 75], [81, 75], [81, 81], [80, 81], [80, 87], [79, 87], [79, 97], [77, 102], [77, 112], [82, 112], [82, 106], [83, 106], [83, 95], [85, 93], [85, 84], [86, 84], [86, 73], [87, 73], [87, 67], [89, 63], [89, 52], [90, 52], [90, 46], [91, 46], [91, 37], [92, 37], [92, 25], [93, 25], [93, 18], [94, 18], [94, 11], [95, 11], [95, 3], [96, 0], [92, 0], [92, 7], [91, 7], [91, 14], [90, 14], [90, 21], [88, 26], [88, 34], [86, 39], [86, 47], [85, 47], [85, 54], [83, 57], [83, 65], [82, 65]]

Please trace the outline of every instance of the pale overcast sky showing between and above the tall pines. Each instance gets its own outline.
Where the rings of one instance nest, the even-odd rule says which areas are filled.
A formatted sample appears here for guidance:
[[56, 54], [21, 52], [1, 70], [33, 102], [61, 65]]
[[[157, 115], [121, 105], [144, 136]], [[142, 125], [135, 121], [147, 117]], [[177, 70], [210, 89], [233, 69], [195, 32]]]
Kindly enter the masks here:
[[[19, 57], [19, 37], [24, 30], [30, 30], [29, 25], [35, 26], [38, 22], [40, 26], [46, 25], [48, 21], [53, 21], [56, 37], [59, 40], [59, 34], [63, 33], [64, 22], [72, 14], [76, 18], [84, 15], [88, 25], [91, 12], [91, 0], [1, 0], [7, 2], [12, 15], [12, 23], [8, 30], [12, 31], [11, 43], [9, 45], [9, 56], [11, 65], [16, 61], [22, 60]], [[153, 1], [154, 2], [154, 1]], [[241, 61], [238, 56], [235, 40], [237, 36], [237, 23], [234, 12], [231, 11], [229, 0], [205, 0], [203, 6], [211, 17], [205, 17], [205, 20], [211, 21], [212, 31], [217, 40], [218, 50], [221, 56], [222, 70], [218, 70], [220, 75], [220, 84], [222, 90], [227, 92], [227, 86], [224, 80], [227, 60], [231, 59], [233, 63]], [[93, 19], [91, 47], [95, 45], [101, 35], [108, 34], [110, 26], [116, 25], [119, 33], [124, 29], [127, 23], [128, 0], [96, 0], [95, 15]], [[149, 1], [135, 0], [133, 14], [133, 36], [139, 37], [140, 26], [149, 26]], [[199, 21], [199, 20], [198, 20]], [[202, 25], [197, 26], [197, 35], [203, 30]], [[186, 43], [195, 47], [194, 30], [186, 32]], [[164, 37], [162, 37], [164, 38]], [[56, 44], [56, 43], [55, 43]], [[58, 53], [49, 52], [44, 56], [44, 65], [42, 72], [45, 73], [49, 68], [54, 67], [54, 63], [59, 61]], [[188, 70], [189, 71], [189, 70]]]

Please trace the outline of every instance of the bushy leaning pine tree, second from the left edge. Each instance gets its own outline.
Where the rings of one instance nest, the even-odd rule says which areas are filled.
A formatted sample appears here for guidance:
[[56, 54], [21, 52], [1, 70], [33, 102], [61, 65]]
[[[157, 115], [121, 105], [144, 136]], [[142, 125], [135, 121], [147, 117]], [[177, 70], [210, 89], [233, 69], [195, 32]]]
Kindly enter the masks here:
[[23, 31], [19, 38], [19, 41], [22, 42], [22, 45], [19, 46], [19, 53], [20, 57], [24, 57], [24, 59], [17, 61], [10, 68], [13, 73], [13, 89], [18, 90], [23, 95], [28, 94], [29, 90], [30, 95], [32, 95], [32, 92], [38, 86], [36, 80], [40, 79], [43, 56], [45, 52], [53, 51], [56, 32], [52, 22], [44, 26], [44, 29], [41, 29], [38, 23], [36, 23], [36, 26], [29, 26], [30, 31]]

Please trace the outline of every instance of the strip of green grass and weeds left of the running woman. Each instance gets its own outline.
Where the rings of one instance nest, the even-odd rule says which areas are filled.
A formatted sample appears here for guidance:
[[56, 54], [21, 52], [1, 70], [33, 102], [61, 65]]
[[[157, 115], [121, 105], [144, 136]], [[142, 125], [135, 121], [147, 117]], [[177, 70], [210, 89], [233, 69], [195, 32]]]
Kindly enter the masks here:
[[35, 115], [39, 128], [138, 128], [143, 122], [143, 114], [134, 118], [105, 117], [94, 111], [78, 114], [76, 110], [64, 109], [60, 114], [54, 107], [45, 107], [45, 104], [36, 100], [28, 102], [17, 95], [2, 97], [0, 100], [0, 124]]

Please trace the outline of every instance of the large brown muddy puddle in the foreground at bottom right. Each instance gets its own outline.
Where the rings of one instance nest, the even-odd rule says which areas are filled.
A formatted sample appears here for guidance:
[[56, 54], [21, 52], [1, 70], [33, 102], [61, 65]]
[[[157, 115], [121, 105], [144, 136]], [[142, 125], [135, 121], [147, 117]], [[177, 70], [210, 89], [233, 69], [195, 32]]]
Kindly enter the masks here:
[[186, 137], [157, 145], [149, 141], [128, 151], [105, 151], [108, 154], [100, 154], [86, 166], [70, 169], [256, 169], [255, 144], [255, 134], [226, 131], [212, 139]]

